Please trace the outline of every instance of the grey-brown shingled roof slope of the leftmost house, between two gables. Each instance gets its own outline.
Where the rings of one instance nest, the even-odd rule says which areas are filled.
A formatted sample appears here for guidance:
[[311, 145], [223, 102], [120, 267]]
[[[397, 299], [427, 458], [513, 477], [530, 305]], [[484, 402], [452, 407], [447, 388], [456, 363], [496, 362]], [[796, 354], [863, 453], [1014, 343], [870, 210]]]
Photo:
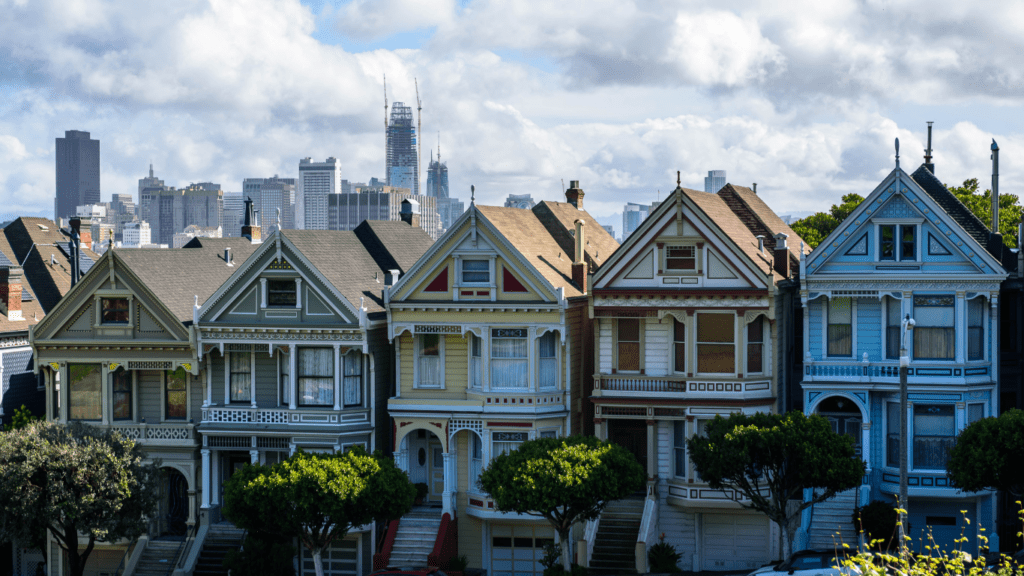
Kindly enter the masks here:
[[116, 248], [117, 255], [146, 288], [184, 324], [237, 270], [224, 261], [224, 248], [234, 262], [245, 261], [258, 247], [246, 238], [195, 238], [182, 248]]

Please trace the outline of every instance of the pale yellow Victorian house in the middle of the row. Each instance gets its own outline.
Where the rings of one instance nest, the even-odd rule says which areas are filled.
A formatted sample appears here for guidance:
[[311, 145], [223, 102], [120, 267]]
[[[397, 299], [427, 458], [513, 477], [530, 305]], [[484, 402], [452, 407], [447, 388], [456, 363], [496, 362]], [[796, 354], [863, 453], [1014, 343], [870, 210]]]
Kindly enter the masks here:
[[[497, 512], [477, 479], [496, 455], [570, 429], [567, 390], [583, 375], [568, 357], [588, 336], [568, 328], [586, 325], [588, 272], [617, 243], [583, 210], [578, 182], [566, 200], [529, 210], [471, 204], [387, 290], [395, 460], [434, 507], [389, 527], [384, 563], [423, 564], [431, 550], [443, 561], [457, 544], [495, 576], [543, 571], [550, 526]], [[424, 539], [433, 548], [417, 548]]]

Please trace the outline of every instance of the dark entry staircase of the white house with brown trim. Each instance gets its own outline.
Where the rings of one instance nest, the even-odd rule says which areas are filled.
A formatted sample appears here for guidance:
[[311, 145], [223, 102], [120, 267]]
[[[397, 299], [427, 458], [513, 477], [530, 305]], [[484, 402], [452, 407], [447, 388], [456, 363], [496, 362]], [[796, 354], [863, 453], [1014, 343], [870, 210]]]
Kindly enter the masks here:
[[643, 496], [608, 503], [601, 512], [590, 558], [589, 574], [613, 576], [636, 574], [636, 544], [643, 520]]

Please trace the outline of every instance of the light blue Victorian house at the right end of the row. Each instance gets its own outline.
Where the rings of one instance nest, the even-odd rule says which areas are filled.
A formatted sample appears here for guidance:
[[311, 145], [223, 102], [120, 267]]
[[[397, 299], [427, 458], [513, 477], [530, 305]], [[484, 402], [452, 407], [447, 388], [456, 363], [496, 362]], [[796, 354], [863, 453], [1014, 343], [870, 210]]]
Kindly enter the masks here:
[[[998, 294], [1015, 256], [924, 164], [899, 167], [801, 262], [803, 403], [850, 435], [867, 463], [859, 490], [809, 508], [797, 542], [854, 544], [853, 507], [899, 493], [901, 319], [908, 370], [908, 535], [949, 550], [979, 528], [998, 549], [992, 492], [949, 486], [956, 435], [998, 413]], [[966, 510], [966, 511], [962, 511]], [[970, 521], [970, 522], [968, 522]], [[924, 542], [924, 543], [923, 543]]]

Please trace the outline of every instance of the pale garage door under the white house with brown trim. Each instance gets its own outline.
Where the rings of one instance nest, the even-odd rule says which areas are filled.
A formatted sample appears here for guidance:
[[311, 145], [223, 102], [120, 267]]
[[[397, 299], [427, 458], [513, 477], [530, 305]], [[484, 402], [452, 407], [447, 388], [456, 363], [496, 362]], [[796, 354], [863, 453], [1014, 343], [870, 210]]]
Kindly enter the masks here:
[[771, 561], [767, 518], [705, 513], [701, 524], [700, 564], [703, 570], [743, 570]]

